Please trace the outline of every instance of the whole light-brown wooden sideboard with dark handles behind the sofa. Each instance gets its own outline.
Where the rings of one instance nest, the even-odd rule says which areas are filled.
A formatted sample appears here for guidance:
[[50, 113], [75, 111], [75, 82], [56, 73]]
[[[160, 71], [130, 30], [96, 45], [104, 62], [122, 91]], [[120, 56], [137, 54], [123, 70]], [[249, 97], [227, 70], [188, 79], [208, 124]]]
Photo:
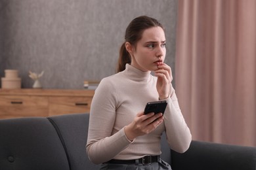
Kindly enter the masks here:
[[0, 89], [0, 119], [90, 111], [95, 90]]

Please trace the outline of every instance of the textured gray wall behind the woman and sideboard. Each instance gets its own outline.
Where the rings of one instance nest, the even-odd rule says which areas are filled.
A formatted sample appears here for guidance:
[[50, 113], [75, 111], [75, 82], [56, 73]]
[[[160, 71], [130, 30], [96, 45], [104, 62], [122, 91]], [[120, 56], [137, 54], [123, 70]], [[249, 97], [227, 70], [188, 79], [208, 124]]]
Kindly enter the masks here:
[[0, 76], [18, 69], [22, 88], [28, 71], [43, 88], [83, 88], [83, 80], [113, 75], [131, 20], [148, 15], [166, 27], [167, 60], [175, 64], [176, 0], [1, 0]]

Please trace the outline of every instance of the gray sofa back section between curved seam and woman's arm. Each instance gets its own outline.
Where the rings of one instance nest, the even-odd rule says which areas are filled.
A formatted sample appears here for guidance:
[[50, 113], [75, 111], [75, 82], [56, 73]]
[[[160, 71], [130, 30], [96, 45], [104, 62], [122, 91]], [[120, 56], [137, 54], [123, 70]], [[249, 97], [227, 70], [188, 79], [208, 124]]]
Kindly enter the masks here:
[[86, 154], [89, 114], [65, 114], [49, 117], [55, 124], [66, 148], [70, 166], [76, 169], [98, 169], [100, 165], [91, 163]]

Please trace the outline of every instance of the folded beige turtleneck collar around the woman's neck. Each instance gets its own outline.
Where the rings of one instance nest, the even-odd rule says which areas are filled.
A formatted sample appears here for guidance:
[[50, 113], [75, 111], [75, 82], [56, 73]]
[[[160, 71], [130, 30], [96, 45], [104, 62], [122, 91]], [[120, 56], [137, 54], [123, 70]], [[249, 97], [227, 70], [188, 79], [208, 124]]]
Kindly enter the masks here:
[[125, 70], [123, 71], [125, 75], [127, 75], [131, 80], [139, 81], [139, 82], [148, 82], [152, 75], [150, 71], [141, 71], [128, 63], [125, 65]]

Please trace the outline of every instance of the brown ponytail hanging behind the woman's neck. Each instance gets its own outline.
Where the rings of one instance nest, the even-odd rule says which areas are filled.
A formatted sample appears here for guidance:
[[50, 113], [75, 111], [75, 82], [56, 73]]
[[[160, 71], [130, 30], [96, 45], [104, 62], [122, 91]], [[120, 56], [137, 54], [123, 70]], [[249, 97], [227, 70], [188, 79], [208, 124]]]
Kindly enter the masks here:
[[131, 63], [131, 57], [129, 52], [125, 48], [125, 42], [121, 45], [119, 50], [119, 59], [117, 63], [117, 73], [125, 70], [125, 65]]

